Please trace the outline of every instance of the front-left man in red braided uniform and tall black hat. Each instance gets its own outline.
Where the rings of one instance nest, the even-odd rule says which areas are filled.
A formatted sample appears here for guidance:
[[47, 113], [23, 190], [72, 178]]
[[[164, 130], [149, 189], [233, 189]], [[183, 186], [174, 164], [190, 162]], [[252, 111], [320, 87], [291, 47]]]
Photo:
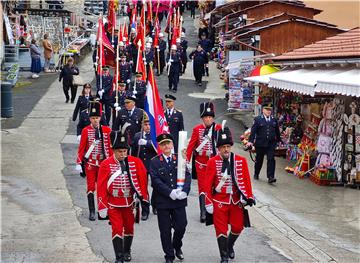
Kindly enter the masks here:
[[124, 133], [110, 133], [114, 154], [102, 162], [97, 181], [98, 218], [110, 220], [116, 263], [131, 261], [136, 199], [148, 202], [146, 169], [139, 158], [127, 155]]

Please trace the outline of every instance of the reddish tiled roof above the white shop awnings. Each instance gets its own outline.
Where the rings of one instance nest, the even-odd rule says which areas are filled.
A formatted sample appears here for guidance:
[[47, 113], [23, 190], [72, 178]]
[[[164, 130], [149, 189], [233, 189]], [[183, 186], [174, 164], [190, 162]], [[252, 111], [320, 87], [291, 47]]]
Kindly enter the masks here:
[[273, 60], [303, 60], [360, 57], [360, 28], [328, 37], [313, 44], [286, 52]]

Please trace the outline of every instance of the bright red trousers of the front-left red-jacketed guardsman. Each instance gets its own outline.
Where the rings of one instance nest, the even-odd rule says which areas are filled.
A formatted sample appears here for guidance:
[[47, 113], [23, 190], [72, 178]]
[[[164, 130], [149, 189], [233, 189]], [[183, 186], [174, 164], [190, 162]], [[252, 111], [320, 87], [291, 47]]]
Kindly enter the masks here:
[[115, 207], [109, 205], [108, 215], [111, 223], [112, 238], [134, 235], [135, 216], [133, 206]]

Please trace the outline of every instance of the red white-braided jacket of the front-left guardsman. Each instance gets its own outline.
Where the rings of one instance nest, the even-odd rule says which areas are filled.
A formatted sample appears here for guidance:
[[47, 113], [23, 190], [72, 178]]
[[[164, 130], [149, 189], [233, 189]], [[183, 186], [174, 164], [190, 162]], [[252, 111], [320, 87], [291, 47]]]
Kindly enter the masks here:
[[129, 207], [134, 202], [134, 194], [148, 202], [145, 166], [139, 158], [133, 156], [128, 156], [125, 163], [130, 174], [122, 172], [112, 179], [112, 175], [121, 168], [119, 161], [112, 155], [101, 163], [97, 179], [99, 211], [107, 209], [109, 205]]

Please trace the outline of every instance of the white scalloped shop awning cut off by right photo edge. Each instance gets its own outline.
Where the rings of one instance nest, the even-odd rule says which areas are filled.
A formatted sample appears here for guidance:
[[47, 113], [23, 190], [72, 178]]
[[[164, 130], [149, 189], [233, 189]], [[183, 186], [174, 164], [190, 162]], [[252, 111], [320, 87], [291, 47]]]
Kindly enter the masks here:
[[360, 69], [350, 69], [319, 79], [315, 92], [360, 97]]

